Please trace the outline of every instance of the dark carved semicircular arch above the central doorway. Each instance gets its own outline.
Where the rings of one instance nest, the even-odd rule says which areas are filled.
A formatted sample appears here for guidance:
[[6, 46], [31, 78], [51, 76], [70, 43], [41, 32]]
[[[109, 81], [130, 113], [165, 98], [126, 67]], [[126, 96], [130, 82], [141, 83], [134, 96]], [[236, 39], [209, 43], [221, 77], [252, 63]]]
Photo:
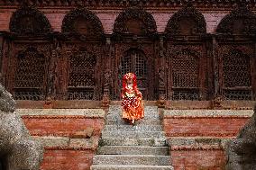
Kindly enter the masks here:
[[156, 22], [151, 13], [139, 8], [126, 9], [114, 21], [116, 34], [151, 35], [156, 32]]

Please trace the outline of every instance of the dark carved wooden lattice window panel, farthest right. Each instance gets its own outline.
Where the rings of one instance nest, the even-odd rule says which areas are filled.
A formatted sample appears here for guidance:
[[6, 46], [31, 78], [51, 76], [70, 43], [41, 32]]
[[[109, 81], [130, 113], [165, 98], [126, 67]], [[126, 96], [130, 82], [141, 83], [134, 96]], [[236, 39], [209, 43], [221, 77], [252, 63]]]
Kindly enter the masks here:
[[226, 100], [251, 100], [252, 46], [222, 45], [219, 48], [222, 65], [222, 93]]

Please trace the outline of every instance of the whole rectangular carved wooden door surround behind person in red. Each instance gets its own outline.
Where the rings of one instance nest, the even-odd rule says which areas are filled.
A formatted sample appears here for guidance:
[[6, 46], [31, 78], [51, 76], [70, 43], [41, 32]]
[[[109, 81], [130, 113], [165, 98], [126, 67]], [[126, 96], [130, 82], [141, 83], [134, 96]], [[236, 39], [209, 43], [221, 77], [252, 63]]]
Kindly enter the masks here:
[[[136, 52], [139, 52], [139, 53], [136, 53]], [[137, 61], [136, 61], [136, 56], [137, 56]], [[139, 87], [142, 87], [141, 90], [142, 90], [142, 93], [144, 93], [143, 99], [152, 100], [153, 98], [155, 98], [154, 94], [157, 94], [157, 92], [154, 89], [154, 84], [149, 83], [149, 82], [155, 81], [155, 67], [154, 67], [155, 60], [154, 59], [155, 58], [154, 58], [153, 44], [147, 44], [147, 43], [115, 44], [115, 58], [113, 60], [113, 65], [112, 65], [112, 68], [114, 69], [113, 99], [114, 100], [120, 99], [120, 90], [122, 85], [122, 71], [123, 73], [125, 71], [130, 71], [130, 66], [133, 67], [132, 71], [134, 72], [136, 70], [141, 70], [140, 72], [138, 72], [139, 75], [138, 75], [137, 81], [138, 81]], [[131, 65], [128, 63], [128, 61], [131, 61]], [[143, 88], [143, 87], [146, 87], [146, 88]]]

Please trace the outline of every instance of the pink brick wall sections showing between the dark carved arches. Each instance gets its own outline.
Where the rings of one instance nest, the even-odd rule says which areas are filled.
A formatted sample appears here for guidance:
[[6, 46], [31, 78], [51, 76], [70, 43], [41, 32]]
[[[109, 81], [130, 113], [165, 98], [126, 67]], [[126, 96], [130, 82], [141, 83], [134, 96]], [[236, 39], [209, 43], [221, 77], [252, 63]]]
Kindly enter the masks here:
[[[1, 9], [0, 10], [0, 31], [9, 31], [9, 22], [12, 13], [16, 9]], [[52, 31], [61, 31], [61, 24], [64, 16], [69, 13], [69, 9], [40, 9], [48, 18]], [[178, 10], [147, 10], [155, 19], [157, 31], [163, 32], [169, 21], [169, 18]], [[111, 34], [114, 28], [114, 20], [122, 10], [92, 10], [103, 24], [104, 31]], [[206, 30], [209, 33], [215, 32], [217, 24], [221, 21], [228, 11], [202, 11], [206, 19]]]

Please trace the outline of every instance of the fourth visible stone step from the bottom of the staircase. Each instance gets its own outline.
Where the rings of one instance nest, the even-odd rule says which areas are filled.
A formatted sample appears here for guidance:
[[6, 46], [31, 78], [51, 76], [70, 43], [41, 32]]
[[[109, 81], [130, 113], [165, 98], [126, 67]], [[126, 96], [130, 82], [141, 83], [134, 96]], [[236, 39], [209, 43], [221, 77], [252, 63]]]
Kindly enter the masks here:
[[99, 146], [148, 146], [164, 147], [168, 146], [165, 138], [161, 139], [99, 139]]

